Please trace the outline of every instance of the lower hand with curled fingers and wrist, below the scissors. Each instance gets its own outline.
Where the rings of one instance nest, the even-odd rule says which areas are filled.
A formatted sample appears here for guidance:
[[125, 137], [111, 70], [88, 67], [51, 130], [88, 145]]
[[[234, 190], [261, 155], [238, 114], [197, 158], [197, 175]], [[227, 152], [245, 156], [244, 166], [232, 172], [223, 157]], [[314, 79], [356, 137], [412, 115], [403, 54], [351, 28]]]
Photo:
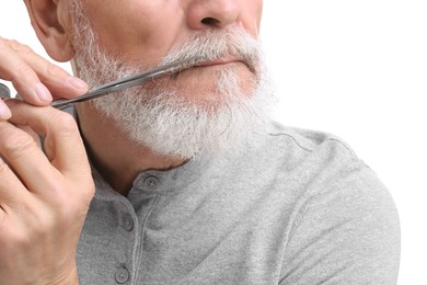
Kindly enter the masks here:
[[0, 121], [0, 284], [78, 284], [76, 248], [94, 185], [77, 124], [50, 106], [5, 103], [13, 115]]

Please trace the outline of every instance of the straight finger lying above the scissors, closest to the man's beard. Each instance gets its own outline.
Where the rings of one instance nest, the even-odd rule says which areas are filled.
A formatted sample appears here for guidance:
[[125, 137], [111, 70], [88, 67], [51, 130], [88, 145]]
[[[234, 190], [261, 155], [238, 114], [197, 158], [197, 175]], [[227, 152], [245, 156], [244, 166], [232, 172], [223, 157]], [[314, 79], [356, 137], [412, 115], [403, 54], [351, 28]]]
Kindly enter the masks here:
[[54, 98], [76, 98], [88, 92], [88, 84], [62, 68], [35, 54], [30, 47], [10, 41], [12, 49], [37, 73]]

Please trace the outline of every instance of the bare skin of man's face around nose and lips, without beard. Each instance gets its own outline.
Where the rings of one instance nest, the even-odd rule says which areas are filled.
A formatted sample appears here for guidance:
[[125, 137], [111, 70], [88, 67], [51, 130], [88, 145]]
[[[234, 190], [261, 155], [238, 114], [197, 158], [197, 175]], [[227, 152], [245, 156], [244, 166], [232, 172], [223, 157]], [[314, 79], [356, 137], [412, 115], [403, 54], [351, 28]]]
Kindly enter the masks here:
[[[244, 29], [257, 38], [262, 0], [82, 0], [86, 16], [106, 53], [125, 62], [159, 64], [173, 47], [206, 30]], [[215, 73], [233, 69], [250, 93], [254, 75], [235, 55], [182, 72], [174, 82], [188, 99], [204, 101], [215, 89]], [[203, 83], [200, 83], [203, 82]], [[208, 100], [208, 99], [207, 99]]]

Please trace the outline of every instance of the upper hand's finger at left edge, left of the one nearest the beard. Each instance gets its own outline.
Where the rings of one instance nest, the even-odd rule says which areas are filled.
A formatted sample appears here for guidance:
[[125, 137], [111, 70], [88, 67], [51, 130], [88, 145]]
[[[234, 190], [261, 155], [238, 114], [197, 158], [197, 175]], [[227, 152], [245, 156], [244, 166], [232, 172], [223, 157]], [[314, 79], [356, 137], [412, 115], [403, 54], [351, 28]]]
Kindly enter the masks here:
[[11, 48], [10, 41], [0, 38], [0, 77], [12, 81], [22, 98], [34, 105], [47, 105], [50, 92], [34, 70]]

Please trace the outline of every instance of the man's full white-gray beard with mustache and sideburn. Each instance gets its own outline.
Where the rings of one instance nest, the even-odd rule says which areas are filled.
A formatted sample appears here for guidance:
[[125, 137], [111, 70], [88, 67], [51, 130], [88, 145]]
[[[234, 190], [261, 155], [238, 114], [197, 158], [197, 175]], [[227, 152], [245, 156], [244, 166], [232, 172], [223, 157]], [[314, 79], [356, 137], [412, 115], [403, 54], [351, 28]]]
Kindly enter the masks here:
[[[74, 11], [79, 12], [78, 9]], [[79, 77], [90, 86], [140, 71], [139, 66], [118, 62], [102, 50], [83, 13], [74, 15], [74, 60]], [[185, 47], [170, 50], [163, 64], [193, 56], [215, 59], [223, 53], [239, 54], [258, 71], [252, 94], [242, 92], [234, 70], [224, 69], [216, 73], [212, 94], [203, 94], [203, 98], [212, 99], [206, 104], [189, 102], [180, 90], [171, 88], [168, 84], [170, 79], [166, 79], [154, 86], [137, 87], [92, 100], [93, 107], [120, 125], [136, 145], [159, 155], [189, 159], [200, 152], [239, 149], [241, 144], [252, 141], [256, 134], [264, 130], [272, 95], [259, 68], [259, 49], [257, 43], [253, 43], [255, 39], [245, 36], [244, 39], [250, 41], [247, 45], [242, 45], [244, 41], [234, 41], [235, 44], [230, 47], [230, 36], [233, 34], [228, 38], [222, 36], [222, 41], [219, 41], [220, 35], [188, 41]], [[200, 43], [207, 44], [200, 46]], [[240, 50], [241, 46], [247, 48]]]

